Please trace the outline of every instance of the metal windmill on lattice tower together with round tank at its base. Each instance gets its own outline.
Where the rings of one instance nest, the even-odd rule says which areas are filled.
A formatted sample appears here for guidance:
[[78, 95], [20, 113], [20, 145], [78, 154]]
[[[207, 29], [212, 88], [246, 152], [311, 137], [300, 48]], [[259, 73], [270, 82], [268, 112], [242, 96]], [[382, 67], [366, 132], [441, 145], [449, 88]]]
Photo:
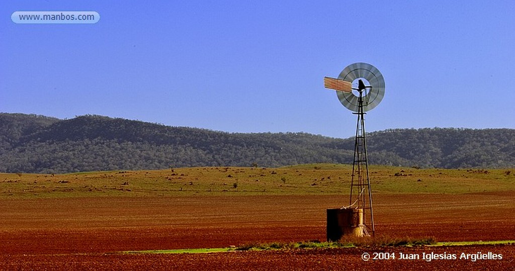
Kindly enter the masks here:
[[338, 78], [323, 79], [324, 87], [336, 90], [340, 103], [357, 115], [349, 206], [327, 209], [327, 239], [336, 241], [346, 234], [374, 235], [364, 116], [383, 99], [385, 81], [376, 67], [361, 62], [348, 65]]

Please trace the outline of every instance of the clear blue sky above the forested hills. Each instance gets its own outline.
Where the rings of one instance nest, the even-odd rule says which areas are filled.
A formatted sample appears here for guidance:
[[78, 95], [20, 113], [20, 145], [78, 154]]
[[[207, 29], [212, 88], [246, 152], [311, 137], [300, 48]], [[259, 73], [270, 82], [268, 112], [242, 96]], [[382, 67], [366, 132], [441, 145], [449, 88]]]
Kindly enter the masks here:
[[[96, 11], [16, 24], [15, 11]], [[515, 1], [5, 1], [0, 112], [352, 137], [324, 76], [386, 82], [368, 132], [515, 128]]]

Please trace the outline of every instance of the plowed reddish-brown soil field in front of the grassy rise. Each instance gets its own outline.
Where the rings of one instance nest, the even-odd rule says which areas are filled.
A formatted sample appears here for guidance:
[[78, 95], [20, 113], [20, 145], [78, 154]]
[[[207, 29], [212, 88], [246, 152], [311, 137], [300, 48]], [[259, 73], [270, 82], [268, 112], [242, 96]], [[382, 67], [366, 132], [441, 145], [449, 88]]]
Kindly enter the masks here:
[[[325, 209], [342, 196], [2, 199], [0, 269], [483, 269], [515, 266], [513, 245], [123, 254], [257, 242], [325, 240]], [[515, 239], [515, 193], [374, 195], [376, 234], [437, 241]], [[389, 252], [397, 259], [362, 260]], [[400, 260], [400, 253], [458, 259]], [[501, 255], [472, 261], [461, 253]], [[486, 257], [486, 256], [485, 256]], [[490, 257], [491, 258], [491, 257]]]

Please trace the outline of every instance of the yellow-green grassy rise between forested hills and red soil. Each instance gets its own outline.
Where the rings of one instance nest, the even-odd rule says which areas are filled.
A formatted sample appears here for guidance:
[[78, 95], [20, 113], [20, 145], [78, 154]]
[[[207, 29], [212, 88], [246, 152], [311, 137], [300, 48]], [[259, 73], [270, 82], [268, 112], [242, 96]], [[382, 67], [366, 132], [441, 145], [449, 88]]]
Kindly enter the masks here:
[[[83, 196], [342, 195], [352, 165], [281, 168], [191, 167], [159, 171], [0, 174], [0, 198]], [[515, 191], [515, 170], [371, 166], [374, 193], [462, 194]]]

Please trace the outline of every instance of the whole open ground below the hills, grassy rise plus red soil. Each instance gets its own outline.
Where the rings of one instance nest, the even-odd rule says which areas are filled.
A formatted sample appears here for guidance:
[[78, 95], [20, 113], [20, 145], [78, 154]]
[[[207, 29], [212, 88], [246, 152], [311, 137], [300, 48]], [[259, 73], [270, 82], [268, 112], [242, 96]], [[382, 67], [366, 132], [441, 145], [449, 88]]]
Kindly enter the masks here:
[[[513, 245], [147, 254], [325, 240], [348, 203], [348, 165], [0, 174], [0, 269], [509, 269]], [[376, 233], [515, 240], [515, 171], [371, 167]], [[499, 253], [501, 260], [377, 260], [362, 253]], [[352, 268], [351, 268], [352, 267]]]

